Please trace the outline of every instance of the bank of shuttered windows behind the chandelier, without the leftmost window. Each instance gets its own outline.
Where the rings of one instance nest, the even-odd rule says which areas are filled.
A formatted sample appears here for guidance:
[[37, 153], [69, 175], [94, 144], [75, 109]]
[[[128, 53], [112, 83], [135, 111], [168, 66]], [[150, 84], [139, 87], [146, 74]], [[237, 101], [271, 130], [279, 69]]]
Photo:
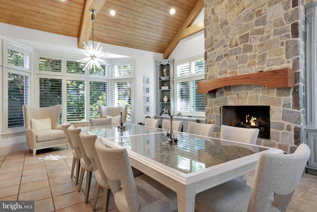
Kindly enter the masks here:
[[62, 104], [60, 122], [99, 118], [99, 104], [128, 104], [127, 121], [131, 120], [132, 60], [115, 60], [102, 65], [103, 70], [83, 70], [85, 64], [76, 62], [77, 58], [46, 52], [38, 52], [37, 58], [40, 106]]

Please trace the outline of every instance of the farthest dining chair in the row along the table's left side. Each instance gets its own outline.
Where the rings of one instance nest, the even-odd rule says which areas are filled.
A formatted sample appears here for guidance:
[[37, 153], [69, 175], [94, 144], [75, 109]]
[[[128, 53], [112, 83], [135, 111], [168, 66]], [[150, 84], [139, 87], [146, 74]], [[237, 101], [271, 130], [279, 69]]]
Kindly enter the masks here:
[[70, 143], [70, 146], [72, 148], [71, 153], [73, 154], [73, 163], [71, 165], [71, 174], [70, 177], [73, 177], [74, 175], [74, 169], [75, 169], [75, 165], [76, 165], [76, 174], [75, 174], [75, 185], [78, 184], [78, 177], [79, 177], [79, 169], [80, 169], [80, 158], [81, 153], [79, 149], [76, 149], [75, 146], [73, 145], [69, 133], [68, 133], [68, 128], [71, 126], [71, 124], [64, 122], [63, 124], [61, 124], [61, 128], [64, 131], [65, 137], [67, 139], [67, 141]]

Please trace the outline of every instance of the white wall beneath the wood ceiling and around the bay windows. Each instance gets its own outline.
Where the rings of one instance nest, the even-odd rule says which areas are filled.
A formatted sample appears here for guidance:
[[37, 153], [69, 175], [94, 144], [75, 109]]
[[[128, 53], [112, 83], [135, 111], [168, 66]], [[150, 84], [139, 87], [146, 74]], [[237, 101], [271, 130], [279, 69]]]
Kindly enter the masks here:
[[[203, 19], [203, 15], [198, 17]], [[195, 23], [195, 22], [194, 22]], [[7, 38], [14, 40], [34, 50], [61, 52], [63, 54], [77, 55], [77, 38], [57, 35], [53, 33], [27, 29], [23, 27], [13, 26], [0, 23], [0, 39]], [[90, 44], [89, 44], [90, 45]], [[110, 52], [111, 58], [133, 58], [134, 59], [134, 123], [144, 122], [145, 116], [156, 115], [156, 66], [155, 60], [163, 59], [163, 55], [154, 52], [136, 50], [126, 47], [101, 44], [103, 52]], [[0, 50], [2, 50], [2, 42], [0, 42]], [[204, 32], [192, 35], [182, 40], [170, 55], [170, 59], [182, 60], [192, 56], [204, 54]], [[2, 51], [0, 51], [0, 82], [2, 82]], [[151, 113], [144, 114], [144, 93], [143, 93], [143, 77], [150, 76], [150, 99]], [[0, 118], [2, 120], [2, 86], [0, 86]], [[2, 122], [0, 122], [0, 155], [26, 148], [25, 136], [16, 136], [3, 138]]]

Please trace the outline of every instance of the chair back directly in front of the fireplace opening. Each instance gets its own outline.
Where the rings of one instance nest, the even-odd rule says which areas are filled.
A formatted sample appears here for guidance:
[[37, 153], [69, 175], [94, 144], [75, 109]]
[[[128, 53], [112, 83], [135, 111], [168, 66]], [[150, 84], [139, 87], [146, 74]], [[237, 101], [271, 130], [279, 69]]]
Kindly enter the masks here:
[[259, 131], [257, 128], [238, 128], [221, 125], [220, 139], [256, 144]]

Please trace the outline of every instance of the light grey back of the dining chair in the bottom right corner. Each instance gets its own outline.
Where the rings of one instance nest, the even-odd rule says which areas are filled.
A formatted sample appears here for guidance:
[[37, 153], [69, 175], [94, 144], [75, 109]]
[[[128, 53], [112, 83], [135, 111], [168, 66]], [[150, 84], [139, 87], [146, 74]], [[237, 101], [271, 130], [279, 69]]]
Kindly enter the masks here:
[[261, 154], [248, 212], [265, 211], [272, 193], [273, 205], [280, 211], [285, 211], [302, 177], [310, 153], [308, 145], [302, 143], [293, 154]]

